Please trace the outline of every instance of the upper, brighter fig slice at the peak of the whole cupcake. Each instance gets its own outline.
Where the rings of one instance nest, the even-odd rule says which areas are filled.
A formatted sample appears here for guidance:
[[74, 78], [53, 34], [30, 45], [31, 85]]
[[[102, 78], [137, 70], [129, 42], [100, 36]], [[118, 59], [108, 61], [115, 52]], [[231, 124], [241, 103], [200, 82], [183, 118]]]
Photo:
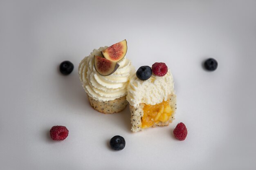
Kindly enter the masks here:
[[111, 60], [113, 62], [119, 62], [124, 58], [126, 52], [127, 42], [126, 40], [123, 40], [101, 51], [101, 54], [108, 60]]

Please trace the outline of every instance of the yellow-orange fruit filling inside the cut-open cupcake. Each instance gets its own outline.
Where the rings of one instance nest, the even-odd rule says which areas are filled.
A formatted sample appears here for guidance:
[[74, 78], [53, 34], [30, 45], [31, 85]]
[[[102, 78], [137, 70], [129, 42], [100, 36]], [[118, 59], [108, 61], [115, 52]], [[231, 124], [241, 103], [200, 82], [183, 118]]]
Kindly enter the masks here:
[[141, 118], [142, 128], [153, 126], [154, 123], [166, 122], [173, 113], [168, 101], [156, 105], [145, 104], [143, 108], [144, 115]]

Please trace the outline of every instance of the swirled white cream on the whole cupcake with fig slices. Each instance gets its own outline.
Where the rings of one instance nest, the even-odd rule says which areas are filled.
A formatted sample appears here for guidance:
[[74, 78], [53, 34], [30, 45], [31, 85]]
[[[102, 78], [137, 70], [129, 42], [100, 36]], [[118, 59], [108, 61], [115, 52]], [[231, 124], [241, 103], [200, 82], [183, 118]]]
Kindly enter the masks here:
[[126, 95], [130, 72], [135, 72], [130, 60], [124, 57], [118, 62], [119, 67], [113, 74], [100, 75], [94, 67], [94, 55], [102, 56], [101, 51], [106, 48], [108, 46], [94, 49], [89, 56], [80, 62], [78, 68], [80, 81], [85, 92], [100, 102], [114, 100]]

